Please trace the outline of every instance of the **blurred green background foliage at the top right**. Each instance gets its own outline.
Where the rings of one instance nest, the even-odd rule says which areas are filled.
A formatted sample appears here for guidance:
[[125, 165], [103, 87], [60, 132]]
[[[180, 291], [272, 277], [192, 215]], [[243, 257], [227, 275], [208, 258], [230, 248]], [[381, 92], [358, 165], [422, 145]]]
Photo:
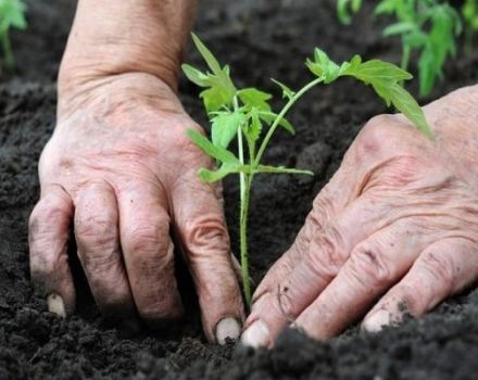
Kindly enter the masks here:
[[[362, 5], [361, 0], [338, 0], [337, 12], [342, 23], [349, 24], [350, 13]], [[399, 36], [402, 42], [403, 69], [411, 56], [418, 55], [417, 68], [420, 96], [428, 96], [443, 77], [443, 66], [456, 55], [456, 36], [462, 33], [460, 14], [448, 2], [437, 0], [381, 0], [375, 8], [377, 15], [392, 15], [395, 22], [383, 29], [383, 36]]]

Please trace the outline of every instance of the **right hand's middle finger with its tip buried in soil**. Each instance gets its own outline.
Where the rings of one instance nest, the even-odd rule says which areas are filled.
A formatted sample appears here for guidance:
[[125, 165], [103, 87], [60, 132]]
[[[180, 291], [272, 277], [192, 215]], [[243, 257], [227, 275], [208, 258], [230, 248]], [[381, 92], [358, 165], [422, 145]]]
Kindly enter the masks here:
[[433, 232], [417, 233], [416, 229], [415, 223], [401, 219], [357, 244], [337, 277], [295, 325], [316, 339], [341, 332], [397, 283], [435, 239]]

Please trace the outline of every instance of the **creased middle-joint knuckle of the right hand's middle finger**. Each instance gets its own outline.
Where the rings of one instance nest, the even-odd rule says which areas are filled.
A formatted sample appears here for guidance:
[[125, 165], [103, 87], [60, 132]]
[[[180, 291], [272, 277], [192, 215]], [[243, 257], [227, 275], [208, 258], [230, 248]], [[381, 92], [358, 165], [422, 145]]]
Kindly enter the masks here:
[[350, 255], [349, 274], [364, 287], [382, 287], [392, 280], [393, 273], [380, 249], [364, 244]]

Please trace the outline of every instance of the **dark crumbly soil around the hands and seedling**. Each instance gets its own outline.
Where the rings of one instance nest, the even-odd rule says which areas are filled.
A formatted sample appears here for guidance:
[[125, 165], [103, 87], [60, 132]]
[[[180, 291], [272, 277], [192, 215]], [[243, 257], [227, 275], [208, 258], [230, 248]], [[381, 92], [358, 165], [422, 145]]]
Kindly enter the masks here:
[[[54, 4], [53, 4], [54, 3]], [[382, 333], [351, 328], [327, 343], [286, 331], [272, 351], [205, 342], [194, 297], [184, 325], [131, 335], [109, 326], [81, 276], [78, 313], [62, 320], [33, 294], [26, 220], [39, 194], [37, 161], [55, 123], [55, 74], [74, 13], [70, 0], [30, 0], [29, 28], [13, 33], [17, 72], [0, 77], [0, 379], [471, 379], [478, 372], [478, 289], [426, 317]], [[268, 78], [303, 84], [303, 60], [319, 45], [337, 60], [353, 53], [399, 61], [397, 41], [380, 38], [365, 9], [352, 26], [336, 21], [334, 1], [202, 0], [197, 31], [239, 85], [276, 91]], [[191, 52], [189, 61], [199, 62]], [[478, 79], [478, 53], [450, 62], [435, 99]], [[200, 122], [197, 89], [181, 97]], [[412, 87], [413, 88], [413, 87]], [[343, 80], [295, 109], [295, 139], [279, 134], [266, 161], [309, 166], [315, 176], [257, 178], [251, 215], [251, 266], [259, 281], [290, 243], [311, 202], [338, 168], [361, 126], [385, 111], [372, 91]], [[235, 180], [225, 183], [227, 219], [237, 237]], [[277, 223], [280, 220], [280, 223]], [[237, 240], [232, 241], [237, 251]], [[187, 288], [187, 287], [185, 287]], [[186, 292], [188, 289], [185, 290]]]

